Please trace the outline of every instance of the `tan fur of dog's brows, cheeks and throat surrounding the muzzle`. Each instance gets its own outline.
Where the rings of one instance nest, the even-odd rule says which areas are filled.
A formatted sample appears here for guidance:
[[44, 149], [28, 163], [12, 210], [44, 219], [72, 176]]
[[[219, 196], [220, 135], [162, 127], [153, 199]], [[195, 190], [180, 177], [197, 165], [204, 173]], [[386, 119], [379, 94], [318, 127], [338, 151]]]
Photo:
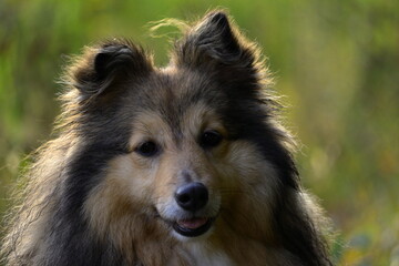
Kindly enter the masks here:
[[[198, 151], [196, 136], [204, 130], [218, 130], [225, 134], [219, 119], [205, 104], [192, 106], [182, 121], [186, 137], [177, 145], [171, 129], [156, 112], [136, 117], [131, 150], [141, 141], [151, 139], [161, 143], [163, 155], [152, 160], [131, 153], [110, 162], [105, 182], [85, 202], [93, 232], [116, 239], [115, 244], [125, 250], [126, 256], [137, 243], [134, 245], [140, 247], [137, 253], [143, 249], [137, 256], [147, 262], [145, 265], [162, 265], [161, 262], [180, 257], [180, 254], [200, 256], [191, 249], [192, 244], [178, 244], [154, 212], [154, 207], [162, 208], [163, 204], [173, 201], [173, 193], [181, 182], [178, 172], [190, 170], [213, 194], [222, 196], [213, 234], [198, 245], [208, 253], [216, 248], [227, 254], [236, 265], [244, 263], [242, 257], [252, 262], [250, 265], [264, 265], [268, 257], [275, 256], [267, 247], [274, 244], [267, 221], [270, 215], [268, 205], [274, 204], [269, 201], [274, 198], [274, 186], [278, 182], [276, 173], [272, 165], [260, 160], [256, 147], [244, 141], [224, 141], [208, 154]], [[265, 176], [270, 180], [268, 183], [263, 182]], [[170, 249], [172, 244], [174, 249]], [[134, 260], [133, 257], [130, 259]], [[200, 257], [195, 259], [201, 260]]]

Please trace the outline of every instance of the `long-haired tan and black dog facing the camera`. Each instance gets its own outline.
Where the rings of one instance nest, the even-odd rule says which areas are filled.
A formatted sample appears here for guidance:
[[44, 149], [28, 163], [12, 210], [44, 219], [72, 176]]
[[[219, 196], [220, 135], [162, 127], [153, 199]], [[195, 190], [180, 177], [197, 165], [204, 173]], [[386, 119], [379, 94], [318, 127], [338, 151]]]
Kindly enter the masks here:
[[165, 68], [115, 39], [86, 48], [62, 80], [6, 265], [332, 264], [269, 70], [224, 11], [187, 27]]

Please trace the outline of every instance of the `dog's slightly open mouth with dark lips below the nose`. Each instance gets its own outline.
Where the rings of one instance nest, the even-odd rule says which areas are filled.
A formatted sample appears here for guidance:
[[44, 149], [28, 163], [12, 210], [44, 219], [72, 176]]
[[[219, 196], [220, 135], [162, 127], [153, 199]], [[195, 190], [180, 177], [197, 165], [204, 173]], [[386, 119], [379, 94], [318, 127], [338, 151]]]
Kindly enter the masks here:
[[173, 229], [186, 237], [196, 237], [205, 234], [212, 227], [214, 218], [177, 219], [172, 224]]

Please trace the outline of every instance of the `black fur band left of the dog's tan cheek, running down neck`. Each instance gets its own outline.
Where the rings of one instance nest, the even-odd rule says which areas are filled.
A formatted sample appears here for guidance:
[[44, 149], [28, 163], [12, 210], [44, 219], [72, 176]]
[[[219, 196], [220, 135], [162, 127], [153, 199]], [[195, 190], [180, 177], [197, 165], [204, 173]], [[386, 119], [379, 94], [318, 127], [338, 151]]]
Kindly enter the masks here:
[[48, 248], [41, 252], [38, 265], [123, 265], [117, 249], [92, 235], [82, 216], [88, 193], [100, 183], [106, 162], [119, 153], [113, 146], [94, 144], [73, 155], [47, 228]]

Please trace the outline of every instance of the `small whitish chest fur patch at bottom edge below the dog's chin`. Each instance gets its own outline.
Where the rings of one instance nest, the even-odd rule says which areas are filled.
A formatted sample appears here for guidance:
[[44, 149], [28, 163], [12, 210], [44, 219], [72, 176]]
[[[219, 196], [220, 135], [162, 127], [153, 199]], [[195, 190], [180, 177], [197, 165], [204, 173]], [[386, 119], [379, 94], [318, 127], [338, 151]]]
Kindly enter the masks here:
[[211, 248], [204, 243], [192, 243], [186, 247], [192, 266], [234, 266], [235, 263], [224, 250]]

